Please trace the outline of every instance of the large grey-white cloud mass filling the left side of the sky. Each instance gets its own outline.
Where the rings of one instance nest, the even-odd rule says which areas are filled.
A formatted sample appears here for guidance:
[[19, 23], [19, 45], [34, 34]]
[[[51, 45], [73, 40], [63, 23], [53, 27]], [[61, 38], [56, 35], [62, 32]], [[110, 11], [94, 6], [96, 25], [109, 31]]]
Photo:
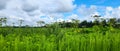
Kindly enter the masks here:
[[[0, 16], [9, 18], [9, 23], [25, 20], [25, 24], [35, 24], [38, 20], [50, 22], [50, 17], [64, 17], [62, 13], [72, 11], [74, 0], [0, 0]], [[41, 18], [41, 16], [45, 16]], [[61, 19], [61, 18], [60, 18]]]

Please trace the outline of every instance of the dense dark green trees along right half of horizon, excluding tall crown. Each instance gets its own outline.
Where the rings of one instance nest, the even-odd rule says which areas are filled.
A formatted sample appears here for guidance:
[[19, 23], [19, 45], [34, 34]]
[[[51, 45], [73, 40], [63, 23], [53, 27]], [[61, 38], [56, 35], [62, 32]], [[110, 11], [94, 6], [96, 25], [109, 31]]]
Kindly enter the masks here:
[[[120, 19], [118, 19], [120, 20]], [[81, 22], [59, 22], [59, 25], [61, 27], [78, 27], [78, 28], [82, 28], [82, 27], [86, 27], [86, 28], [91, 28], [93, 26], [101, 26], [101, 27], [115, 27], [115, 28], [120, 28], [120, 22], [118, 22], [118, 20], [116, 20], [115, 18], [110, 18], [109, 20], [94, 20], [94, 21], [81, 21]], [[78, 20], [75, 20], [78, 21]]]

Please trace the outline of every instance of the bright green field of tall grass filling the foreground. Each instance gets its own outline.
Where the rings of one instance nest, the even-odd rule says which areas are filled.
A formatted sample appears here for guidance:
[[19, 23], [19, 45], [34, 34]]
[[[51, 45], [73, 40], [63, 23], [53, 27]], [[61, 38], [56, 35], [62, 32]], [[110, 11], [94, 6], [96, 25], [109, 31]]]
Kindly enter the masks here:
[[120, 29], [0, 28], [0, 51], [120, 51]]

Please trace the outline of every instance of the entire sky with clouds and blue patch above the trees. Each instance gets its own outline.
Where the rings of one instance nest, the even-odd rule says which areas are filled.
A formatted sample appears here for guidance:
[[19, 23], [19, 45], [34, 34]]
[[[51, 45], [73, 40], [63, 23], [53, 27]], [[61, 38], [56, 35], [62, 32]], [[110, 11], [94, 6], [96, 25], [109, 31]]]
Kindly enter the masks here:
[[120, 18], [119, 0], [0, 0], [0, 17], [8, 24], [36, 25], [39, 20], [51, 23], [74, 18], [92, 20], [91, 15]]

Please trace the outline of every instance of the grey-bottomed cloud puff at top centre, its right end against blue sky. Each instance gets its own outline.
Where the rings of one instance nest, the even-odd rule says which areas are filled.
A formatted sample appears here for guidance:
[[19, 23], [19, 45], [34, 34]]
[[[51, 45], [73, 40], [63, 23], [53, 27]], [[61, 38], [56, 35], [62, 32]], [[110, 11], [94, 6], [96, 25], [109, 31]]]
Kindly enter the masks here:
[[41, 11], [47, 13], [69, 12], [76, 7], [73, 4], [73, 0], [52, 0], [45, 2], [44, 5], [45, 7], [40, 7]]

